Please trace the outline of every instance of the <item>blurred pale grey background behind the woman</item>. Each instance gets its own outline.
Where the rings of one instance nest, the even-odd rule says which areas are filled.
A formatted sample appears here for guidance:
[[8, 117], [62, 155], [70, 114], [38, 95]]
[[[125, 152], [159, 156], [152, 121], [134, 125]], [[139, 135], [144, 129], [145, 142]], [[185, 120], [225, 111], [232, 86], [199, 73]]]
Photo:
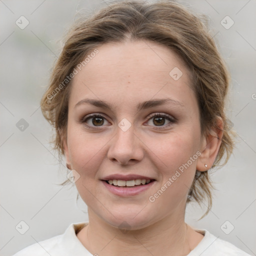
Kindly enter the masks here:
[[[256, 2], [182, 2], [209, 19], [231, 72], [227, 111], [238, 133], [227, 165], [212, 175], [216, 190], [211, 211], [197, 221], [205, 208], [188, 205], [186, 221], [256, 255]], [[65, 179], [65, 164], [59, 164], [51, 149], [52, 129], [42, 117], [39, 100], [63, 33], [79, 13], [106, 4], [100, 0], [0, 0], [0, 255], [12, 255], [62, 233], [71, 222], [87, 220], [85, 204], [80, 199], [75, 202], [76, 189], [56, 185]], [[21, 15], [29, 21], [24, 29], [15, 24]], [[226, 15], [234, 21], [229, 29], [220, 23]], [[28, 123], [23, 131], [16, 126], [21, 118]], [[29, 226], [24, 234], [15, 229], [21, 220]], [[234, 226], [229, 234], [220, 228], [226, 220], [225, 230]]]

